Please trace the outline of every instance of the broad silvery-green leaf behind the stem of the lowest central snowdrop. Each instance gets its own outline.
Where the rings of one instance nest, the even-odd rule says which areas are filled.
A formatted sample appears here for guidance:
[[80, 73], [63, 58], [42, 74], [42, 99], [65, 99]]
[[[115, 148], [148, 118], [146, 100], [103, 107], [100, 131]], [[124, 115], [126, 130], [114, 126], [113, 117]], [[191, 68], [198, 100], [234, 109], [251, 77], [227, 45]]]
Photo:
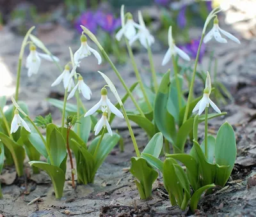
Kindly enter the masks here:
[[[89, 153], [92, 154], [92, 156], [97, 147], [99, 139], [100, 139], [100, 136], [93, 139], [92, 143], [88, 147], [88, 151], [89, 151]], [[98, 170], [100, 165], [102, 165], [103, 161], [106, 159], [106, 157], [111, 152], [113, 147], [116, 146], [116, 144], [118, 143], [119, 140], [120, 140], [120, 135], [118, 135], [117, 133], [113, 133], [112, 137], [108, 133], [106, 133], [104, 135], [102, 141], [100, 142], [100, 146], [97, 151], [97, 154], [95, 157], [93, 157], [95, 160], [95, 166], [94, 166], [95, 172]]]

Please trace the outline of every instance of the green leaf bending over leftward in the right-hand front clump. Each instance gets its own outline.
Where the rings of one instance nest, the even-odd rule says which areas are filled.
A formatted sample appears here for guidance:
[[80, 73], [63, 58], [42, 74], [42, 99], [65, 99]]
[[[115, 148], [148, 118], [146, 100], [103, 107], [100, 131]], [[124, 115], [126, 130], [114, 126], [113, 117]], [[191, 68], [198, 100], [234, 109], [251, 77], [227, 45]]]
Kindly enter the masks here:
[[195, 158], [189, 154], [166, 154], [166, 158], [174, 158], [186, 166], [189, 183], [191, 184], [193, 190], [197, 190], [199, 174], [198, 165]]

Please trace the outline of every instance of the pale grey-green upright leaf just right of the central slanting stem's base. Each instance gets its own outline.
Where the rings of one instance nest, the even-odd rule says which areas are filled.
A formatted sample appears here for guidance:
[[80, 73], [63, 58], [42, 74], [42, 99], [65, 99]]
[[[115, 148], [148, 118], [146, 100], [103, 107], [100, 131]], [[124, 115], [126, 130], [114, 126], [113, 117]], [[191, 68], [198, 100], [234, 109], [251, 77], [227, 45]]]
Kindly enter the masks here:
[[151, 154], [152, 156], [158, 158], [163, 147], [163, 134], [156, 133], [154, 137], [150, 139], [147, 146], [142, 153]]

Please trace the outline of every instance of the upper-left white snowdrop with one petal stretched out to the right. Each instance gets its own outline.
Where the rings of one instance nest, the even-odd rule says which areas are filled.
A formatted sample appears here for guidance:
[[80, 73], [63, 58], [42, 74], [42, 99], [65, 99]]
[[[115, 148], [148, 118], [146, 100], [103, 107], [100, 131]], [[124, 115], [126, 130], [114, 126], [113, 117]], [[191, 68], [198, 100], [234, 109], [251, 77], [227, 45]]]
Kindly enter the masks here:
[[55, 56], [51, 57], [48, 54], [42, 54], [40, 52], [37, 52], [35, 45], [30, 45], [29, 50], [30, 52], [26, 59], [26, 68], [28, 68], [28, 77], [31, 77], [31, 75], [38, 73], [38, 70], [41, 65], [40, 57], [46, 59], [47, 61], [53, 61], [52, 58], [54, 59], [54, 61], [57, 61], [57, 62], [59, 61], [58, 57], [55, 57]]

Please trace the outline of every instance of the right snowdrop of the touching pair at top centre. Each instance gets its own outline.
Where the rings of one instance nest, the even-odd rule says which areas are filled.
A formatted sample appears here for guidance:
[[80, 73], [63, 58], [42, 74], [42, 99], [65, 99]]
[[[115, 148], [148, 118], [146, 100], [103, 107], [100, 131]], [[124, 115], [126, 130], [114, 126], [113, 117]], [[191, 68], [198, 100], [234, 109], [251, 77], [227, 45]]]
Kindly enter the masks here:
[[138, 17], [139, 17], [140, 29], [138, 33], [133, 38], [131, 38], [131, 40], [129, 41], [129, 44], [131, 45], [132, 43], [134, 43], [134, 41], [139, 39], [141, 45], [145, 47], [145, 49], [148, 49], [148, 46], [150, 47], [152, 43], [155, 42], [155, 38], [150, 34], [147, 27], [145, 26], [145, 22], [141, 15], [141, 11], [138, 11]]

